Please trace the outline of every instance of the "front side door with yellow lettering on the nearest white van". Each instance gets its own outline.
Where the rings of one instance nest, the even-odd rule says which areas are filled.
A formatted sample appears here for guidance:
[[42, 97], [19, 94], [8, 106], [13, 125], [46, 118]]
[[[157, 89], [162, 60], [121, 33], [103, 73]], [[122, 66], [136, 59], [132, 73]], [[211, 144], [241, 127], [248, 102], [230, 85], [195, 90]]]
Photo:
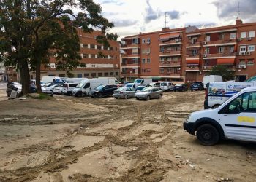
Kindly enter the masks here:
[[222, 124], [226, 138], [256, 141], [256, 92], [245, 92], [225, 107]]

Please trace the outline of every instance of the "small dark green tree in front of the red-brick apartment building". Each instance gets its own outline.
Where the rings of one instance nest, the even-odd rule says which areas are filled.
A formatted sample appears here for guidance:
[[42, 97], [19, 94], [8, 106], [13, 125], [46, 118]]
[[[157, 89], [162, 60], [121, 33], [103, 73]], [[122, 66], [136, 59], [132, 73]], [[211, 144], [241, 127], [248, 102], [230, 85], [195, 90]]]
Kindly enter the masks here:
[[235, 71], [231, 70], [228, 66], [217, 65], [213, 66], [208, 72], [210, 75], [220, 75], [223, 81], [233, 80], [235, 78]]

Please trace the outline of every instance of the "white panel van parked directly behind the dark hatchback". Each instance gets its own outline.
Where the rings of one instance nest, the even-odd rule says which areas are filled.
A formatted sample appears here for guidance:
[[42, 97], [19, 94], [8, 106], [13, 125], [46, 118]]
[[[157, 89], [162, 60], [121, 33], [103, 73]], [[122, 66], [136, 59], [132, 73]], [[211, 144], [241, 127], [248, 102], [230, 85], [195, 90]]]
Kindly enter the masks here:
[[82, 80], [75, 89], [72, 90], [72, 95], [86, 97], [91, 90], [101, 84], [116, 84], [116, 79], [85, 79]]

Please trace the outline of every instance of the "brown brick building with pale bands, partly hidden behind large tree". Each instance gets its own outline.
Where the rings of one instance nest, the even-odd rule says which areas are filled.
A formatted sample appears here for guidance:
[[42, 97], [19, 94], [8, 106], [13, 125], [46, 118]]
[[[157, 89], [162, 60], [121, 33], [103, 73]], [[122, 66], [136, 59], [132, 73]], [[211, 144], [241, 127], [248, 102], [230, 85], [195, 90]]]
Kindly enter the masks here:
[[[72, 71], [74, 77], [94, 78], [94, 77], [116, 77], [120, 79], [120, 45], [118, 41], [109, 41], [110, 47], [104, 47], [96, 40], [100, 31], [84, 33], [82, 29], [77, 28], [80, 38], [81, 63], [86, 67], [75, 68]], [[102, 57], [99, 52], [102, 52]], [[66, 71], [56, 70], [55, 58], [50, 58], [49, 68], [41, 67], [42, 76], [60, 76], [67, 77]], [[35, 73], [31, 73], [31, 79], [35, 78]]]

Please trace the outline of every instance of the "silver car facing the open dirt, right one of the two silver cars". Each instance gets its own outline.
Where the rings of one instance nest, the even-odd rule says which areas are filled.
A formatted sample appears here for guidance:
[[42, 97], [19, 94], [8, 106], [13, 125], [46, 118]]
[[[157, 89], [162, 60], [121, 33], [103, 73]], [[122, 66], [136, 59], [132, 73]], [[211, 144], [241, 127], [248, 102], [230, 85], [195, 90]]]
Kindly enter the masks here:
[[162, 95], [162, 89], [159, 87], [145, 87], [140, 92], [135, 93], [135, 98], [150, 100], [151, 98], [162, 98]]

